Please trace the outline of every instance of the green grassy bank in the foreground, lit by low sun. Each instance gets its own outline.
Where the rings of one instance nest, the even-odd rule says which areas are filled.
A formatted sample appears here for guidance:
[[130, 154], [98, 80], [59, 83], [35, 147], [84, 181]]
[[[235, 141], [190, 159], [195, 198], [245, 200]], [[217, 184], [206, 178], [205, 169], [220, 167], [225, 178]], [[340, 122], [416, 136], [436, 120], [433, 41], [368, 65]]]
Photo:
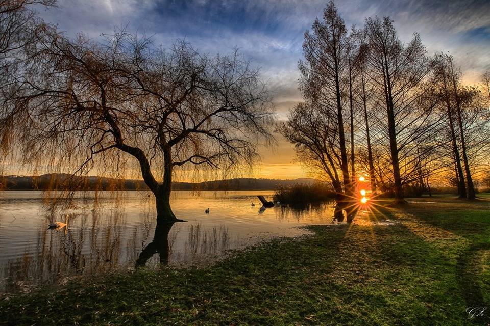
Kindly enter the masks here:
[[[436, 201], [436, 204], [430, 202]], [[468, 325], [490, 308], [490, 201], [382, 209], [206, 268], [138, 270], [0, 301], [0, 323]], [[490, 312], [486, 313], [487, 316]]]

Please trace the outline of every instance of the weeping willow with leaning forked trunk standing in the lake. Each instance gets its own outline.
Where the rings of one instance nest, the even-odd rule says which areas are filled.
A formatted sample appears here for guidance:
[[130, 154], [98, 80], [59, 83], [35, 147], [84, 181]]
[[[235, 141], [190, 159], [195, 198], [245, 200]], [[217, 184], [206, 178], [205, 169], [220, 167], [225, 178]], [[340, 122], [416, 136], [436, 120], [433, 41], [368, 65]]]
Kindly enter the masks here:
[[50, 28], [31, 51], [4, 99], [2, 145], [19, 149], [24, 164], [74, 174], [124, 176], [135, 162], [157, 221], [177, 221], [176, 169], [233, 173], [271, 139], [269, 93], [237, 51], [208, 57], [185, 42], [163, 49], [124, 31], [97, 42]]

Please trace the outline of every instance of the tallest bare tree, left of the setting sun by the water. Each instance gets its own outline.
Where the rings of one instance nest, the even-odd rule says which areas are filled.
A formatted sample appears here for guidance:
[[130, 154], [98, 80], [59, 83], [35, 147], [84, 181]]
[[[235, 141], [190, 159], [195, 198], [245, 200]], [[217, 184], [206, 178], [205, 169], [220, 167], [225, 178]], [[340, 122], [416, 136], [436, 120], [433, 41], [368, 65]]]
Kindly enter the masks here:
[[[308, 105], [327, 115], [325, 121], [329, 126], [326, 130], [335, 132], [333, 137], [328, 137], [331, 140], [329, 146], [337, 147], [340, 153], [338, 158], [346, 194], [351, 192], [344, 127], [344, 97], [349, 85], [346, 80], [350, 80], [349, 42], [344, 20], [330, 1], [322, 20], [316, 19], [311, 33], [305, 33], [305, 61], [299, 64], [303, 97]], [[337, 158], [336, 153], [333, 157]]]

